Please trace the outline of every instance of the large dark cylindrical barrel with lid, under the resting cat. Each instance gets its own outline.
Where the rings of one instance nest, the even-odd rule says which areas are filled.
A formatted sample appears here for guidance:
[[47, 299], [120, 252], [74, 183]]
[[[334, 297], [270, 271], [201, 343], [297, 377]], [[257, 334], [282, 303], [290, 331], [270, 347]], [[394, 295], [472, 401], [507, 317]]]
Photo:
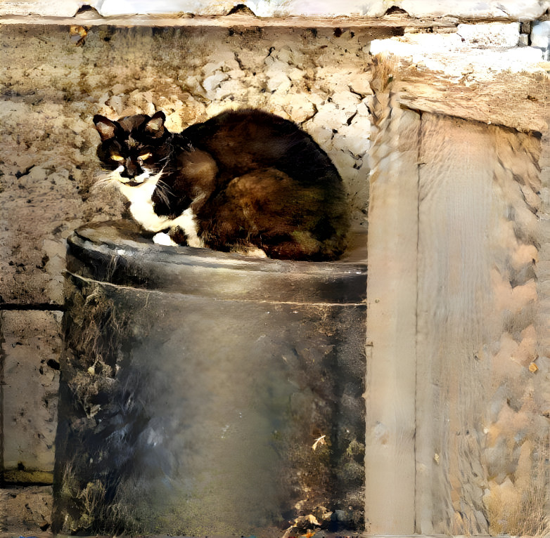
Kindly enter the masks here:
[[68, 244], [54, 531], [362, 527], [364, 263]]

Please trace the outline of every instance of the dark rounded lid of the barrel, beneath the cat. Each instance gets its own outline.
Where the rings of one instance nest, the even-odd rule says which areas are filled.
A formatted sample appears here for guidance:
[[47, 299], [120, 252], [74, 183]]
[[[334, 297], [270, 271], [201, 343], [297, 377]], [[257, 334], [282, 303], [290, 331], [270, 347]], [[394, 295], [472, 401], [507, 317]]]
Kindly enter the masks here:
[[[366, 237], [362, 238], [366, 243]], [[366, 263], [252, 258], [210, 249], [164, 247], [129, 221], [85, 225], [68, 238], [77, 277], [222, 300], [364, 303]]]

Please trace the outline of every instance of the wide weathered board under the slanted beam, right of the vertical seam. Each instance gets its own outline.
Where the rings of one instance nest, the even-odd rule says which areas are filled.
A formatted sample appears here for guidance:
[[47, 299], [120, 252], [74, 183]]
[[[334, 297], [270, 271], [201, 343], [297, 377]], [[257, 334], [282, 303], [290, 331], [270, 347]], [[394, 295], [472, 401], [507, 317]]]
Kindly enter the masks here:
[[417, 532], [544, 533], [539, 139], [432, 114], [421, 132]]

